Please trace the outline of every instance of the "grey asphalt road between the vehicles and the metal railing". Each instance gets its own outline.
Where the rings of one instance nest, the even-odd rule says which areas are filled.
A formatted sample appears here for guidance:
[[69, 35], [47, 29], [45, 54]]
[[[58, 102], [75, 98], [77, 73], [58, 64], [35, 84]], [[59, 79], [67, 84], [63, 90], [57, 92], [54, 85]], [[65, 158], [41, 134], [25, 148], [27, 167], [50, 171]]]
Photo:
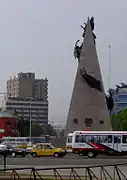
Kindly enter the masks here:
[[[0, 164], [3, 163], [3, 158], [0, 158]], [[95, 159], [87, 159], [83, 156], [65, 156], [64, 158], [54, 158], [54, 157], [40, 157], [33, 158], [31, 156], [25, 158], [7, 158], [7, 165], [12, 166], [41, 166], [41, 167], [51, 167], [51, 166], [79, 166], [79, 165], [101, 165], [101, 164], [119, 164], [127, 163], [127, 157], [107, 157], [98, 156]]]

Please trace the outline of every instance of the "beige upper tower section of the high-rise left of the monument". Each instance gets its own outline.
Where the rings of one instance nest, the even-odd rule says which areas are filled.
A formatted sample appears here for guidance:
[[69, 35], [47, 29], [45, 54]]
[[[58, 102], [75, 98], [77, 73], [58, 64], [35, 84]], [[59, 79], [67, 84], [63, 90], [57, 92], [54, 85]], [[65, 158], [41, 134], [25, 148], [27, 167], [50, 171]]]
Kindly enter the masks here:
[[48, 80], [36, 79], [35, 73], [18, 73], [18, 77], [10, 77], [7, 81], [7, 97], [33, 97], [47, 101]]

